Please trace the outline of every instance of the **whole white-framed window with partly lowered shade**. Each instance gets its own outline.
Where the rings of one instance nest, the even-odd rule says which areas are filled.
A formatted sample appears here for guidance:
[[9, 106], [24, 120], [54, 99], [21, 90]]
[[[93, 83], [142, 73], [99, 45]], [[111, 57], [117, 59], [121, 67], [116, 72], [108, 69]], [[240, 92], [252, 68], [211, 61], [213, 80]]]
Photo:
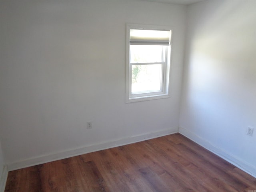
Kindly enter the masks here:
[[126, 102], [169, 97], [171, 28], [127, 24]]

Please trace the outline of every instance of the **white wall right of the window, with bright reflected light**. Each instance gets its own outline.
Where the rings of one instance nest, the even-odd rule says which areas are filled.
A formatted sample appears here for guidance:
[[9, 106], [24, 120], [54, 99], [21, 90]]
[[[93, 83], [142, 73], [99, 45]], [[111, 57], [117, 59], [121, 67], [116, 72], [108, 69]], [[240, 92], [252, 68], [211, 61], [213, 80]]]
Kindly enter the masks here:
[[[180, 132], [256, 175], [256, 1], [188, 7]], [[248, 126], [254, 135], [246, 135]]]

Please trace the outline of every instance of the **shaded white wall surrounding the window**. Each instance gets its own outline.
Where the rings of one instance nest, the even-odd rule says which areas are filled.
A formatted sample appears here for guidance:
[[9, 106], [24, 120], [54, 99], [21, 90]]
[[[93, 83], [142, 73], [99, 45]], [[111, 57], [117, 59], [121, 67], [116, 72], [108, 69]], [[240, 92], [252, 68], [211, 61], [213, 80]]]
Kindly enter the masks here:
[[[185, 13], [133, 0], [1, 1], [0, 139], [9, 169], [178, 130]], [[125, 103], [126, 23], [174, 26], [171, 98]]]

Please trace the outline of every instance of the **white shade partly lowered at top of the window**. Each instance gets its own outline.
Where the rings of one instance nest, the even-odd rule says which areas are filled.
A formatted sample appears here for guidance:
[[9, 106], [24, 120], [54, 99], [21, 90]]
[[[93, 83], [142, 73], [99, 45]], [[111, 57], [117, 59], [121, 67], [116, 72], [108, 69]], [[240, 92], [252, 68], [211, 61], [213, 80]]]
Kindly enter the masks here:
[[131, 45], [169, 45], [170, 30], [130, 29]]

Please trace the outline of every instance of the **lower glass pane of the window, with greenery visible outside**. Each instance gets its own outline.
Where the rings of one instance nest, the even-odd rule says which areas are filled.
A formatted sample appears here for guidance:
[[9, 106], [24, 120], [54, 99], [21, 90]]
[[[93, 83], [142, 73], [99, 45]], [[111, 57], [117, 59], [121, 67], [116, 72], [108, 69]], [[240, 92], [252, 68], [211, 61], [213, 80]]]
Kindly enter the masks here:
[[132, 65], [132, 94], [161, 91], [162, 64]]

